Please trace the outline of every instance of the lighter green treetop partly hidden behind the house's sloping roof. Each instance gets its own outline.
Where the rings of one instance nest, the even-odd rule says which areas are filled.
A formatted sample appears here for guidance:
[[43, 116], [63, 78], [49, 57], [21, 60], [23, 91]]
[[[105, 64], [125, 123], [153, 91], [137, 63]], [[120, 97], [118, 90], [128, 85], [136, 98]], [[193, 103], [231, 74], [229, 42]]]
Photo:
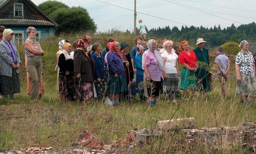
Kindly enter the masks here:
[[56, 0], [53, 0], [53, 1], [48, 0], [46, 2], [40, 3], [38, 7], [42, 10], [42, 12], [44, 12], [47, 15], [53, 13], [55, 10], [59, 8], [63, 8], [63, 9], [70, 8], [68, 7], [68, 5], [58, 2]]

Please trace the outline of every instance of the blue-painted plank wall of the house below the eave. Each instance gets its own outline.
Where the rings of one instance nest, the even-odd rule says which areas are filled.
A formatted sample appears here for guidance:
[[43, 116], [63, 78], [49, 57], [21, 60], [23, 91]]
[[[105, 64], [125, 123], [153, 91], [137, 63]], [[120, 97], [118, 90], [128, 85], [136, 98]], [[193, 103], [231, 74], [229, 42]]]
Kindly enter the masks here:
[[[24, 31], [24, 41], [27, 39], [26, 30], [29, 26], [5, 26], [6, 29], [12, 29], [13, 31]], [[48, 36], [54, 35], [54, 27], [34, 26], [36, 31], [41, 31], [41, 39], [45, 39]]]

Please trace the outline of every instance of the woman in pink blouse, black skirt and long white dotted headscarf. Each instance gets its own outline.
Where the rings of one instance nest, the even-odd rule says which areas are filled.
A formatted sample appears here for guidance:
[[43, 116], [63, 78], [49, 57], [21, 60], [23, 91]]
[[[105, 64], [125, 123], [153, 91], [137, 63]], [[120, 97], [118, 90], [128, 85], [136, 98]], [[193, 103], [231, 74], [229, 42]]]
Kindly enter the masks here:
[[146, 74], [146, 81], [151, 82], [151, 86], [147, 88], [149, 96], [149, 105], [153, 106], [157, 104], [157, 98], [159, 91], [162, 88], [164, 64], [161, 54], [156, 50], [156, 41], [150, 39], [147, 42], [147, 51], [144, 56], [144, 72]]

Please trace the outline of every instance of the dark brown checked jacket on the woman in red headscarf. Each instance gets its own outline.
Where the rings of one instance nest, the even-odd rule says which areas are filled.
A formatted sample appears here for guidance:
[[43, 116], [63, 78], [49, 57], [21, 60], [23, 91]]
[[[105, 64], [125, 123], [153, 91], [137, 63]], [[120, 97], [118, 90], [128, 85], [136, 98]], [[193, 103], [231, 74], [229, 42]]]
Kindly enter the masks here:
[[[91, 58], [90, 52], [88, 56]], [[93, 59], [91, 63], [84, 51], [77, 49], [74, 53], [74, 72], [81, 73], [81, 78], [83, 77], [82, 80], [84, 82], [93, 82], [93, 67]]]

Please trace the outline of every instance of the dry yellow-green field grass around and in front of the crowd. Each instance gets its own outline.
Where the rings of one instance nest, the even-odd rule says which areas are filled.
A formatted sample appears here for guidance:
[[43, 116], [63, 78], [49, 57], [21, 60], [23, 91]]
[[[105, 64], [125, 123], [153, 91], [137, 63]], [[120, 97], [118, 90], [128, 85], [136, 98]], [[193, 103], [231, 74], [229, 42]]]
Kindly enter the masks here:
[[[62, 36], [61, 38], [70, 39], [72, 42], [78, 37]], [[112, 37], [120, 42], [127, 41], [130, 47], [134, 46], [134, 36], [120, 34], [92, 36], [92, 42], [97, 40], [101, 44], [106, 44], [106, 37]], [[106, 143], [122, 139], [131, 129], [156, 128], [158, 120], [167, 120], [172, 117], [194, 117], [197, 128], [219, 125], [237, 126], [242, 122], [255, 120], [255, 109], [245, 110], [243, 104], [239, 102], [240, 97], [235, 95], [235, 76], [231, 76], [231, 80], [229, 80], [231, 100], [220, 98], [219, 80], [214, 79], [214, 90], [206, 95], [197, 93], [196, 102], [192, 102], [192, 100], [183, 102], [182, 98], [178, 98], [176, 103], [170, 104], [160, 101], [156, 107], [149, 107], [145, 102], [139, 102], [139, 100], [133, 103], [123, 102], [118, 107], [106, 106], [102, 102], [89, 102], [86, 105], [81, 105], [78, 102], [60, 103], [58, 91], [56, 91], [57, 74], [54, 71], [58, 42], [57, 37], [40, 42], [45, 51], [42, 63], [46, 92], [42, 97], [42, 102], [30, 103], [24, 66], [20, 69], [21, 93], [15, 94], [15, 100], [0, 100], [0, 150], [32, 146], [71, 147], [85, 129], [90, 130], [100, 141]], [[18, 46], [18, 50], [24, 63], [23, 46]], [[216, 66], [211, 66], [217, 69]], [[231, 64], [231, 68], [231, 72], [234, 73], [234, 64]], [[180, 108], [178, 108], [179, 105]], [[179, 133], [175, 133], [176, 139], [179, 136]], [[171, 151], [172, 147], [168, 145], [170, 142], [174, 142], [175, 137], [169, 134], [165, 136], [164, 141], [155, 139], [148, 145], [145, 152], [136, 151], [135, 153], [146, 154], [148, 150], [151, 153]], [[161, 147], [158, 144], [160, 141], [163, 143]], [[242, 148], [236, 149], [242, 151]], [[189, 152], [181, 148], [178, 150]], [[205, 150], [211, 152], [213, 149], [204, 146], [197, 149], [199, 153]], [[223, 149], [213, 153], [230, 152], [230, 149]]]

